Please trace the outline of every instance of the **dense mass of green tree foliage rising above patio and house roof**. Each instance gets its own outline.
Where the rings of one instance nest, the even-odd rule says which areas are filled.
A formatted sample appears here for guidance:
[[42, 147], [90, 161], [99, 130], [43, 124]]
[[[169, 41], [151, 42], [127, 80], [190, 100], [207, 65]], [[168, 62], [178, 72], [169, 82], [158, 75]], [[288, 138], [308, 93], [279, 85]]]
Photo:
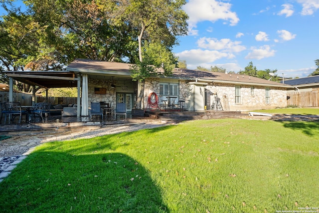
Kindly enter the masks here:
[[[11, 1], [0, 2], [5, 5]], [[153, 54], [144, 51], [155, 43], [160, 52], [171, 53], [172, 47], [178, 44], [176, 36], [187, 33], [188, 16], [182, 10], [186, 0], [23, 2], [28, 9], [23, 13], [18, 9], [9, 12], [0, 28], [0, 35], [5, 38], [0, 47], [10, 51], [5, 52], [3, 48], [0, 52], [2, 68], [60, 70], [80, 57], [130, 63], [161, 60], [163, 73], [169, 74], [168, 67], [177, 63], [172, 54], [155, 60]], [[169, 61], [164, 61], [167, 58]], [[142, 73], [145, 72], [141, 70]], [[144, 82], [141, 75], [133, 76]], [[144, 91], [141, 92], [143, 97]]]

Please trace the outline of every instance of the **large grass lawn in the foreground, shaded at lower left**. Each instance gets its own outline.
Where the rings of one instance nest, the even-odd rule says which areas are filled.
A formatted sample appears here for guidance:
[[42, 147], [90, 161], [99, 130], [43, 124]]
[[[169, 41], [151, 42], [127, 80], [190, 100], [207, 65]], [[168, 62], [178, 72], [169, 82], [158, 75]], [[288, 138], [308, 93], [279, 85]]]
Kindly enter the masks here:
[[45, 143], [0, 183], [0, 209], [317, 212], [318, 151], [319, 122], [243, 119]]

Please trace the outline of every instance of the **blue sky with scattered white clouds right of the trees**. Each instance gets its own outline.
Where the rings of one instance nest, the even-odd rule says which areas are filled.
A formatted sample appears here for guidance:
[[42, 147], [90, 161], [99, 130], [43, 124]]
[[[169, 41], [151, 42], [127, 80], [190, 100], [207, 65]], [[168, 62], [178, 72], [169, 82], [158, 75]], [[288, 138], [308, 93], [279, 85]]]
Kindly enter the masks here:
[[306, 77], [319, 59], [319, 0], [188, 0], [189, 32], [173, 51], [187, 68], [277, 69]]

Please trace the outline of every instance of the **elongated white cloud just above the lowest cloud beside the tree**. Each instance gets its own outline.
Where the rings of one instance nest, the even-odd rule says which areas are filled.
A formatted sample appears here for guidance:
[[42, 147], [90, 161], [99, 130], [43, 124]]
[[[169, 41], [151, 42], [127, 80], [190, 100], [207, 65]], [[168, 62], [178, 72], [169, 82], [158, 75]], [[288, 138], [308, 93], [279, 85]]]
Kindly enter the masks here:
[[246, 49], [245, 46], [240, 45], [241, 41], [231, 41], [229, 38], [218, 40], [217, 38], [202, 37], [197, 40], [197, 45], [200, 48], [211, 50], [223, 50], [227, 52], [241, 52]]

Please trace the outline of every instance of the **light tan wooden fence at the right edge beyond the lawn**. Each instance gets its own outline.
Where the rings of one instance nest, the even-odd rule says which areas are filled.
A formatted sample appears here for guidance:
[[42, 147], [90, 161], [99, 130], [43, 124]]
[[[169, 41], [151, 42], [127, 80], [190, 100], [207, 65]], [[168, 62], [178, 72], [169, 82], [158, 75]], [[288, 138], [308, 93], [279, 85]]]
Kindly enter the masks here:
[[287, 91], [287, 105], [295, 105], [299, 107], [318, 107], [319, 91], [308, 92], [290, 92]]

